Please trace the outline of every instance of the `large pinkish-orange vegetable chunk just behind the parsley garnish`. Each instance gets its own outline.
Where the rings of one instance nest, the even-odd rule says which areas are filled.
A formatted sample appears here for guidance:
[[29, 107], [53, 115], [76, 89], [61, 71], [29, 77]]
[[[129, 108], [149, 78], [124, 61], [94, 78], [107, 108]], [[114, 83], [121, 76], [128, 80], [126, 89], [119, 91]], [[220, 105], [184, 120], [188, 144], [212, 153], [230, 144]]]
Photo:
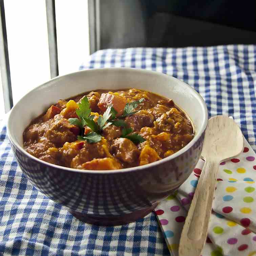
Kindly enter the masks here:
[[117, 112], [116, 116], [120, 116], [124, 112], [124, 107], [127, 103], [127, 100], [125, 97], [110, 94], [110, 93], [102, 93], [100, 101], [98, 103], [98, 107], [101, 111], [106, 111], [107, 107], [109, 105], [113, 105], [113, 108]]

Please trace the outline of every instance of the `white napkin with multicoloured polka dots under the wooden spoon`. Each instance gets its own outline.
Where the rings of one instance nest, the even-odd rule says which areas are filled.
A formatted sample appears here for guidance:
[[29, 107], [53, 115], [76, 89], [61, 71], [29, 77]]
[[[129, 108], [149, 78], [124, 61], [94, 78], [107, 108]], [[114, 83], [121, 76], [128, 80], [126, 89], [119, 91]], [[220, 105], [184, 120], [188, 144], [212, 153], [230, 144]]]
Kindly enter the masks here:
[[[255, 157], [244, 138], [243, 152], [220, 163], [203, 256], [256, 256]], [[168, 248], [175, 256], [178, 256], [180, 235], [203, 166], [204, 161], [200, 159], [178, 191], [155, 209]]]

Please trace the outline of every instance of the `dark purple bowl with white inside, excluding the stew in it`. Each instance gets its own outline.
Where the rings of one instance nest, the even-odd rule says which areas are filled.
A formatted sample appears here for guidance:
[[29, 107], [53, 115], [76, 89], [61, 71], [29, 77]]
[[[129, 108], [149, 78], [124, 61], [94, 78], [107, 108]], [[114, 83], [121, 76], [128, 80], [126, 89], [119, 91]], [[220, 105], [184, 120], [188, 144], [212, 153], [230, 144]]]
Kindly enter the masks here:
[[[96, 89], [122, 88], [138, 88], [173, 99], [194, 124], [193, 140], [157, 162], [106, 171], [49, 164], [23, 149], [24, 129], [59, 99]], [[207, 122], [204, 100], [184, 82], [148, 70], [102, 68], [57, 77], [27, 93], [11, 110], [7, 132], [20, 168], [39, 191], [80, 220], [112, 226], [144, 217], [188, 178], [200, 157]]]

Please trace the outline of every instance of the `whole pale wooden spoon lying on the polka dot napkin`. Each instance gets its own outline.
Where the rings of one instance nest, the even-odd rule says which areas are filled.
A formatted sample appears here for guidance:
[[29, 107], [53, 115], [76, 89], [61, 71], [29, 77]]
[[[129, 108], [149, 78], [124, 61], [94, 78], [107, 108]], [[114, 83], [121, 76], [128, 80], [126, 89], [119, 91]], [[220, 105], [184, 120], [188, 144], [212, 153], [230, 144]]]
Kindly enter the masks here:
[[179, 256], [199, 256], [204, 247], [219, 164], [243, 150], [243, 135], [228, 116], [209, 119], [202, 147], [205, 160], [179, 242]]

